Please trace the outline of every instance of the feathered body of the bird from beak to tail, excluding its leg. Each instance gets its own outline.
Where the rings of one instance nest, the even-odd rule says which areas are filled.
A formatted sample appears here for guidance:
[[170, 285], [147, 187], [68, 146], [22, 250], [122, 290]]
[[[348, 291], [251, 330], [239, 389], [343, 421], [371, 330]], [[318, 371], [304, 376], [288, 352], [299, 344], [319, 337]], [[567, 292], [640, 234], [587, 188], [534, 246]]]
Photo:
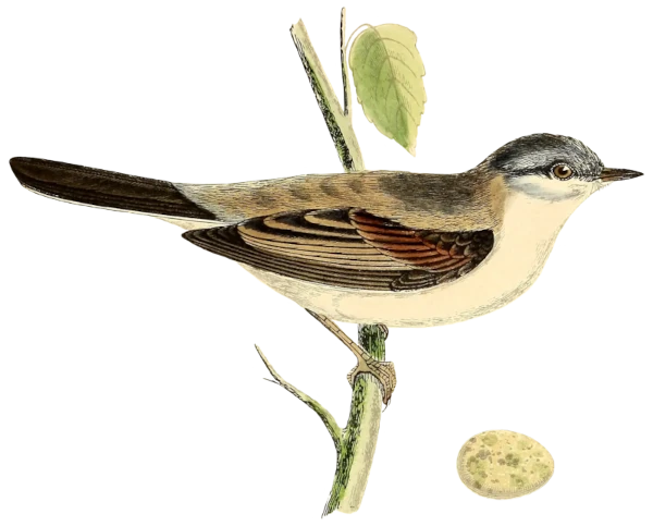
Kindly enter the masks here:
[[391, 329], [467, 322], [515, 303], [537, 285], [583, 201], [642, 175], [549, 132], [452, 173], [183, 184], [36, 158], [10, 158], [10, 167], [44, 197], [173, 224], [306, 310]]

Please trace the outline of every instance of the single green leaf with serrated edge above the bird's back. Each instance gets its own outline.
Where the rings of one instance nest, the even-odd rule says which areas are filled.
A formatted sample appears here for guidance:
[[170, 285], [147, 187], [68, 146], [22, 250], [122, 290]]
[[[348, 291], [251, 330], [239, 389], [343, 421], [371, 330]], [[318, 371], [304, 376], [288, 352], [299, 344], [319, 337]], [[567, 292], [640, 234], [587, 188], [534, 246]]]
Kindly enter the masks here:
[[366, 120], [385, 138], [417, 157], [427, 113], [427, 61], [417, 34], [394, 22], [361, 24], [349, 39], [356, 99]]

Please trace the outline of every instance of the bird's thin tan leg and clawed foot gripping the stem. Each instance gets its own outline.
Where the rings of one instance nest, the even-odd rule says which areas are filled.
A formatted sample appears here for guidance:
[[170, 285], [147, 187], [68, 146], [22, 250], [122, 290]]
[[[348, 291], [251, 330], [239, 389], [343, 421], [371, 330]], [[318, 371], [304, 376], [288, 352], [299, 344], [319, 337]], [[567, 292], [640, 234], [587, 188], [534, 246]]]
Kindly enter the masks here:
[[[341, 329], [336, 322], [311, 310], [306, 310], [306, 313], [308, 313], [311, 318], [315, 318], [319, 323], [322, 325], [322, 327], [337, 338], [340, 342], [345, 345], [345, 347], [347, 347], [356, 358], [356, 366], [345, 375], [345, 380], [347, 383], [354, 384], [354, 380], [356, 380], [357, 375], [361, 372], [370, 372], [381, 382], [383, 388], [383, 406], [387, 407], [392, 395], [396, 392], [398, 386], [395, 364], [391, 360], [381, 362], [374, 358], [349, 334]], [[385, 326], [382, 327], [387, 340], [390, 337], [390, 331]]]

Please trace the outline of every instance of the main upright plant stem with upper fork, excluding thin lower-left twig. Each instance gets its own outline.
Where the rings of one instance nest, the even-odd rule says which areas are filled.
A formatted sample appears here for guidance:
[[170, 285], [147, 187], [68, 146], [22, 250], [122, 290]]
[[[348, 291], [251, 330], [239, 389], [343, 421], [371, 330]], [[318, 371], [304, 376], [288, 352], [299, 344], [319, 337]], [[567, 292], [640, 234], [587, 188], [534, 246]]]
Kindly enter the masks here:
[[[322, 111], [334, 149], [344, 170], [367, 170], [362, 147], [356, 134], [354, 96], [347, 53], [349, 28], [347, 7], [341, 9], [341, 85], [342, 103], [324, 65], [313, 47], [310, 35], [299, 20], [291, 27], [291, 35], [304, 64], [306, 77]], [[359, 326], [358, 340], [375, 359], [387, 357], [387, 335], [380, 326]], [[356, 514], [365, 502], [369, 480], [374, 467], [383, 424], [383, 388], [372, 375], [362, 372], [352, 386], [352, 403], [345, 436], [336, 455], [336, 468], [331, 492], [322, 511], [322, 518], [333, 513]]]

